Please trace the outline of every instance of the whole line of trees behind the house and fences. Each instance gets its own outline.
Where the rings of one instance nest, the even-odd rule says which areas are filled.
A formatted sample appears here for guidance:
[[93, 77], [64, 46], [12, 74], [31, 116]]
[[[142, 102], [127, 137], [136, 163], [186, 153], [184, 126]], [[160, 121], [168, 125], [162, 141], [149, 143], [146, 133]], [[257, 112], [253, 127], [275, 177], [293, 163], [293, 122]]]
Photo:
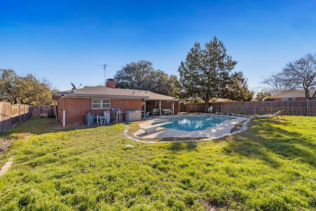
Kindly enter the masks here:
[[[122, 66], [114, 75], [118, 88], [143, 89], [174, 96], [187, 102], [208, 103], [217, 98], [232, 101], [250, 101], [254, 91], [249, 90], [241, 71], [233, 71], [237, 61], [227, 54], [223, 42], [216, 37], [202, 46], [196, 42], [178, 68], [179, 79], [153, 68], [153, 62], [139, 60]], [[13, 70], [0, 69], [0, 100], [22, 104], [50, 104], [51, 93], [58, 90], [46, 79], [41, 81], [32, 74], [18, 76]], [[265, 87], [256, 98], [265, 100], [274, 91], [309, 88], [316, 85], [316, 54], [289, 62], [279, 73], [264, 78]]]

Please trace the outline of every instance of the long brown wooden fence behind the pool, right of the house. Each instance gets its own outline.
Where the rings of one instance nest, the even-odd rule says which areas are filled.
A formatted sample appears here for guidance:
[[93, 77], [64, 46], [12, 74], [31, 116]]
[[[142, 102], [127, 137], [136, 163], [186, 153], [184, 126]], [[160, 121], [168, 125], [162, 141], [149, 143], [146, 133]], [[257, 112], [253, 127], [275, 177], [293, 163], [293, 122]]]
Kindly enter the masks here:
[[[181, 103], [180, 112], [205, 112], [204, 103]], [[214, 112], [316, 116], [316, 100], [208, 103]]]

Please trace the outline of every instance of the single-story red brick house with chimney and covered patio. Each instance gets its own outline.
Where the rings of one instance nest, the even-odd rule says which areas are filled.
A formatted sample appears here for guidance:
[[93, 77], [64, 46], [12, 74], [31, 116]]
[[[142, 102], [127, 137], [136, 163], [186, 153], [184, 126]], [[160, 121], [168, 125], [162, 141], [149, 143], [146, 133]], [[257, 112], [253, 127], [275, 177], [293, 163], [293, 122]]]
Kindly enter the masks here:
[[86, 114], [103, 116], [104, 111], [110, 111], [111, 119], [115, 120], [113, 111], [118, 109], [122, 112], [122, 120], [127, 111], [142, 111], [144, 117], [147, 108], [158, 110], [160, 115], [165, 111], [169, 114], [179, 112], [179, 99], [146, 90], [116, 88], [115, 85], [114, 79], [108, 79], [107, 86], [84, 86], [53, 93], [58, 119], [63, 122], [63, 111], [66, 125], [85, 123]]

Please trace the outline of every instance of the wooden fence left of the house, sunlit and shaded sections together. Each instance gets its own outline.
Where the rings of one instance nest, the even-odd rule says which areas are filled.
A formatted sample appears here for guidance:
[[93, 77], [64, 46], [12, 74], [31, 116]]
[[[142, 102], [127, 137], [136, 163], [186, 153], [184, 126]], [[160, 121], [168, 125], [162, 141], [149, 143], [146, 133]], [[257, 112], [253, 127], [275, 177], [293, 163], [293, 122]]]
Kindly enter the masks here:
[[0, 102], [0, 132], [14, 127], [28, 119], [55, 117], [55, 107], [52, 105], [24, 105]]

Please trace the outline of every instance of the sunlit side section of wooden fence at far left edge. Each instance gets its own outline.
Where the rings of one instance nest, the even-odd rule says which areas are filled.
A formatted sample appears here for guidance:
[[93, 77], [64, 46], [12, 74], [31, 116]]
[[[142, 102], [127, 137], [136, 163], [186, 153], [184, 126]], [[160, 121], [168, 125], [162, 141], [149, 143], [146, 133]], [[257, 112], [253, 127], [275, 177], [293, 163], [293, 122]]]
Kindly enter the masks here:
[[0, 102], [0, 132], [30, 119], [29, 105]]

